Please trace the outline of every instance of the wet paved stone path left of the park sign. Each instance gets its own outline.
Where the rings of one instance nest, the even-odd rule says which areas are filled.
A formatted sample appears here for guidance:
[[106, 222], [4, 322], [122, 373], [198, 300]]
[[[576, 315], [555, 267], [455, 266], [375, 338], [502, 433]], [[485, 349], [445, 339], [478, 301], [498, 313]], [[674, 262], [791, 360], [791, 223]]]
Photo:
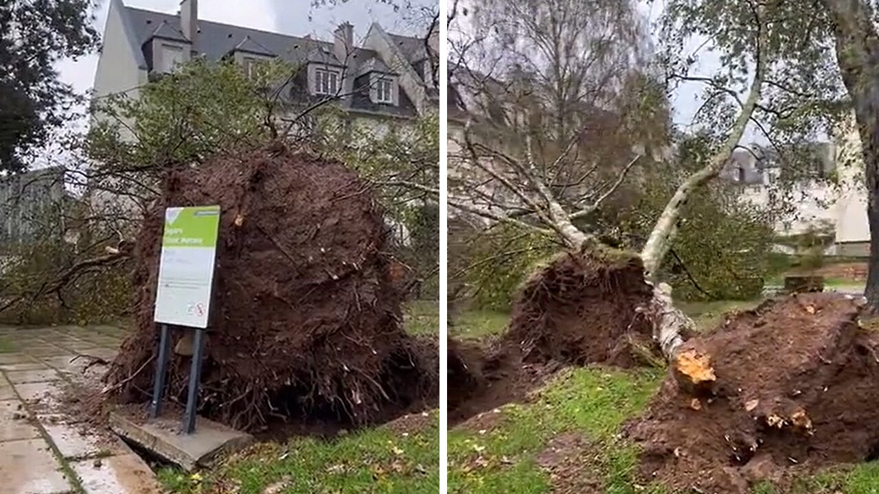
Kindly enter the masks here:
[[[71, 383], [103, 372], [124, 331], [112, 326], [0, 327], [13, 346], [0, 352], [0, 491], [3, 494], [158, 494], [153, 472], [127, 445], [65, 415], [59, 397]], [[0, 346], [2, 347], [2, 346]], [[73, 361], [71, 361], [73, 360]]]

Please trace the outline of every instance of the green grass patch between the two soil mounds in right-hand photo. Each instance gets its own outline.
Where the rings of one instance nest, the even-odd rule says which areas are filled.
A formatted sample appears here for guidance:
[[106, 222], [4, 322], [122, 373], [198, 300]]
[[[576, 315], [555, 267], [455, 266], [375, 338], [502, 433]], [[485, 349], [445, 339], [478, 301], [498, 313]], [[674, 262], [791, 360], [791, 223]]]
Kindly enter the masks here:
[[643, 410], [661, 379], [654, 369], [571, 369], [552, 379], [534, 403], [499, 409], [498, 423], [490, 430], [450, 431], [448, 491], [548, 492], [549, 478], [537, 464], [538, 455], [556, 435], [582, 432], [604, 450], [606, 491], [630, 492], [636, 452], [621, 444], [616, 433], [626, 418]]

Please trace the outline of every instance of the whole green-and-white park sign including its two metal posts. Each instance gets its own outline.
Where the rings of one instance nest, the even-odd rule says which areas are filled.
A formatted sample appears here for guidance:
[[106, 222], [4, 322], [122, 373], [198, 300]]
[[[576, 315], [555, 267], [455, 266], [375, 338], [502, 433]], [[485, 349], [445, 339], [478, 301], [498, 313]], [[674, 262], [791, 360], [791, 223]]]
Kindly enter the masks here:
[[181, 432], [195, 431], [204, 340], [214, 286], [220, 207], [169, 207], [165, 210], [162, 255], [159, 260], [156, 308], [153, 320], [160, 323], [156, 376], [150, 417], [162, 414], [165, 375], [168, 373], [169, 324], [195, 331], [193, 362]]

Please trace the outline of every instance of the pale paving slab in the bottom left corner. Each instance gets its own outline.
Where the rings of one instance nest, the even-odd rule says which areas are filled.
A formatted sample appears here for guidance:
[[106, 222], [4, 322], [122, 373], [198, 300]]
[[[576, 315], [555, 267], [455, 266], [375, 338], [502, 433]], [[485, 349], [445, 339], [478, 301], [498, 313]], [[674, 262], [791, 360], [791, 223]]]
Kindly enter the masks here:
[[4, 494], [62, 494], [73, 490], [44, 440], [0, 442]]

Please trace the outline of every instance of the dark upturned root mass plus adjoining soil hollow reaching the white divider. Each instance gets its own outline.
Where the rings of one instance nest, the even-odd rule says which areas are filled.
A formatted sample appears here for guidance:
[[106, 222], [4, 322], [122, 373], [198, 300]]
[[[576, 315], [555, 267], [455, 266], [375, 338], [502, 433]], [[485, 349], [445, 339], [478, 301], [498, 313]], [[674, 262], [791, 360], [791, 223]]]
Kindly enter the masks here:
[[566, 252], [534, 272], [505, 334], [489, 345], [449, 342], [449, 419], [461, 422], [528, 391], [566, 366], [633, 367], [654, 352], [640, 258]]

